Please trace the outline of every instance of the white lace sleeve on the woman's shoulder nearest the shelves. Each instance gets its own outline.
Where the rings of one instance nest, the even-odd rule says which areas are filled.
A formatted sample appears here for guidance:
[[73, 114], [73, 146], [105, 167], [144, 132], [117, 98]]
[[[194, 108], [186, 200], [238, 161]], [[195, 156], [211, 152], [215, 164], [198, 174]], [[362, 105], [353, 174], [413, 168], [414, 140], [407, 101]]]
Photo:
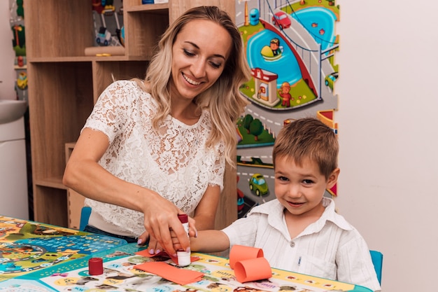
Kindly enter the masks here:
[[84, 125], [92, 130], [106, 134], [111, 141], [120, 132], [129, 113], [132, 99], [135, 98], [132, 81], [115, 81], [101, 93], [94, 109]]

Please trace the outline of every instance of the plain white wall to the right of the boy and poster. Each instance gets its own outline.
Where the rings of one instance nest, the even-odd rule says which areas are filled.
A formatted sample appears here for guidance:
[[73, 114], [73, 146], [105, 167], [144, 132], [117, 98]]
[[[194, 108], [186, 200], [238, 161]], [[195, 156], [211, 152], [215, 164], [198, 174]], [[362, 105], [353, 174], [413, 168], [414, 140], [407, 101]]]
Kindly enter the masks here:
[[435, 291], [438, 1], [337, 4], [337, 207], [383, 252], [383, 291]]

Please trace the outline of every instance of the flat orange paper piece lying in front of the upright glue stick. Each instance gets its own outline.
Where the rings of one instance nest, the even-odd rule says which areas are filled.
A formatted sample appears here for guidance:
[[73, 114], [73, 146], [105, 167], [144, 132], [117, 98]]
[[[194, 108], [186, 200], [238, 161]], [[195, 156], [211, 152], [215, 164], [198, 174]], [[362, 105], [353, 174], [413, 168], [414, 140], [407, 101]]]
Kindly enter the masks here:
[[156, 274], [157, 276], [180, 285], [187, 285], [201, 281], [204, 276], [202, 272], [185, 270], [164, 262], [142, 263], [141, 265], [134, 265], [134, 268]]

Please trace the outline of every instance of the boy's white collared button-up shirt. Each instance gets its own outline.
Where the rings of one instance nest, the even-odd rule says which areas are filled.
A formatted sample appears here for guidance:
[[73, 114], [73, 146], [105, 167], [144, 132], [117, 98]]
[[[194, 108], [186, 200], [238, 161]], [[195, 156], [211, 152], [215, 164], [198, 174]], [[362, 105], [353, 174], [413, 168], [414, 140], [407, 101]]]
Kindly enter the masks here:
[[246, 218], [224, 228], [234, 244], [263, 249], [271, 267], [344, 281], [380, 291], [365, 239], [334, 211], [334, 201], [323, 197], [325, 211], [295, 238], [290, 238], [278, 200], [254, 207]]

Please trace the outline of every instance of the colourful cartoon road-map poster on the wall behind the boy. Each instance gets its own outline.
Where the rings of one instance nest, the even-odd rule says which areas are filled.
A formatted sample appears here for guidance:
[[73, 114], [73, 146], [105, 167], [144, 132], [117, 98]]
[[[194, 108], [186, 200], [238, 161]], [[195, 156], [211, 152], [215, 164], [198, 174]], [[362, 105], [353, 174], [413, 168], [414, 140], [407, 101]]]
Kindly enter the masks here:
[[[241, 87], [250, 104], [236, 127], [239, 217], [275, 198], [271, 153], [283, 125], [313, 116], [337, 133], [335, 2], [236, 0], [236, 24], [252, 76]], [[336, 186], [326, 195], [337, 195]]]

